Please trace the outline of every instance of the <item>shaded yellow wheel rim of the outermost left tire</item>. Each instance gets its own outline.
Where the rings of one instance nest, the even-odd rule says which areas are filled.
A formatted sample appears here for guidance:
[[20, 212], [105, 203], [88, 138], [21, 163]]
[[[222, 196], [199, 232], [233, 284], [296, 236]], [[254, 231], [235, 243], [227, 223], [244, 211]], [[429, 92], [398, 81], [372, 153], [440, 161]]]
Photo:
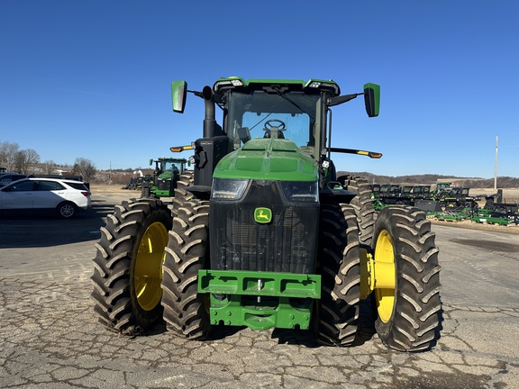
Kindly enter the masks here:
[[168, 245], [168, 230], [161, 222], [146, 229], [135, 260], [133, 282], [137, 301], [144, 311], [151, 311], [162, 297], [162, 264], [164, 248]]

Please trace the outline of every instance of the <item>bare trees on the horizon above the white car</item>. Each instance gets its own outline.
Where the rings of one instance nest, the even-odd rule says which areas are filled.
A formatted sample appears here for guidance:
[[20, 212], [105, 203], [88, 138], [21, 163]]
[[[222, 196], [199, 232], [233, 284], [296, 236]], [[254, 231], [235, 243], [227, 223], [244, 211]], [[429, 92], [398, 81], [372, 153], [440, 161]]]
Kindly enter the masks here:
[[[52, 159], [41, 162], [40, 155], [34, 149], [20, 149], [18, 143], [0, 142], [0, 167], [6, 172], [20, 173], [24, 175], [59, 174], [56, 164]], [[69, 174], [82, 176], [89, 182], [96, 176], [96, 165], [87, 158], [76, 158], [74, 165], [70, 167]]]

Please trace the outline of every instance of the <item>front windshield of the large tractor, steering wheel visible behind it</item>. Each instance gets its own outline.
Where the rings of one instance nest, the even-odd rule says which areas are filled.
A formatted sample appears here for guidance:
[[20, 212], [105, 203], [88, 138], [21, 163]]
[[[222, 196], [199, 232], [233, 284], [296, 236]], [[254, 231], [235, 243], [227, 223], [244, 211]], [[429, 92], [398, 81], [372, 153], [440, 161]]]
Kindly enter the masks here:
[[[315, 106], [320, 95], [302, 92], [229, 95], [227, 135], [234, 149], [241, 147], [250, 135], [256, 138], [283, 138], [298, 147], [314, 146]], [[245, 137], [244, 134], [247, 134]]]

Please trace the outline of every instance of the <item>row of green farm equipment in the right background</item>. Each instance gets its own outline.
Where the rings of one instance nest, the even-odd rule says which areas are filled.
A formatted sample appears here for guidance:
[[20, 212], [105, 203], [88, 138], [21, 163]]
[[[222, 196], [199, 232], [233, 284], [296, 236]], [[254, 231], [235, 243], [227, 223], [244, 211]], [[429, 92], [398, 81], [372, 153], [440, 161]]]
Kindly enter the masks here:
[[[454, 187], [450, 182], [436, 185], [371, 185], [374, 207], [411, 205], [427, 217], [446, 222], [472, 221], [498, 225], [519, 225], [517, 201], [503, 201], [501, 189], [495, 195], [469, 195], [469, 188]], [[484, 204], [480, 205], [483, 202]]]

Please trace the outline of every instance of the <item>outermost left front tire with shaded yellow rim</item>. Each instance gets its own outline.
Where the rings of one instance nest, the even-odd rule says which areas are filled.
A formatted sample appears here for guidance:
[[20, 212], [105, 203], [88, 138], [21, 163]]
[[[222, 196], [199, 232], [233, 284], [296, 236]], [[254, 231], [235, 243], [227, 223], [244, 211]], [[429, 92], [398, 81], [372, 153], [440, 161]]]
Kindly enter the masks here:
[[116, 205], [96, 243], [92, 298], [108, 329], [138, 335], [162, 319], [160, 287], [172, 217], [158, 199]]

